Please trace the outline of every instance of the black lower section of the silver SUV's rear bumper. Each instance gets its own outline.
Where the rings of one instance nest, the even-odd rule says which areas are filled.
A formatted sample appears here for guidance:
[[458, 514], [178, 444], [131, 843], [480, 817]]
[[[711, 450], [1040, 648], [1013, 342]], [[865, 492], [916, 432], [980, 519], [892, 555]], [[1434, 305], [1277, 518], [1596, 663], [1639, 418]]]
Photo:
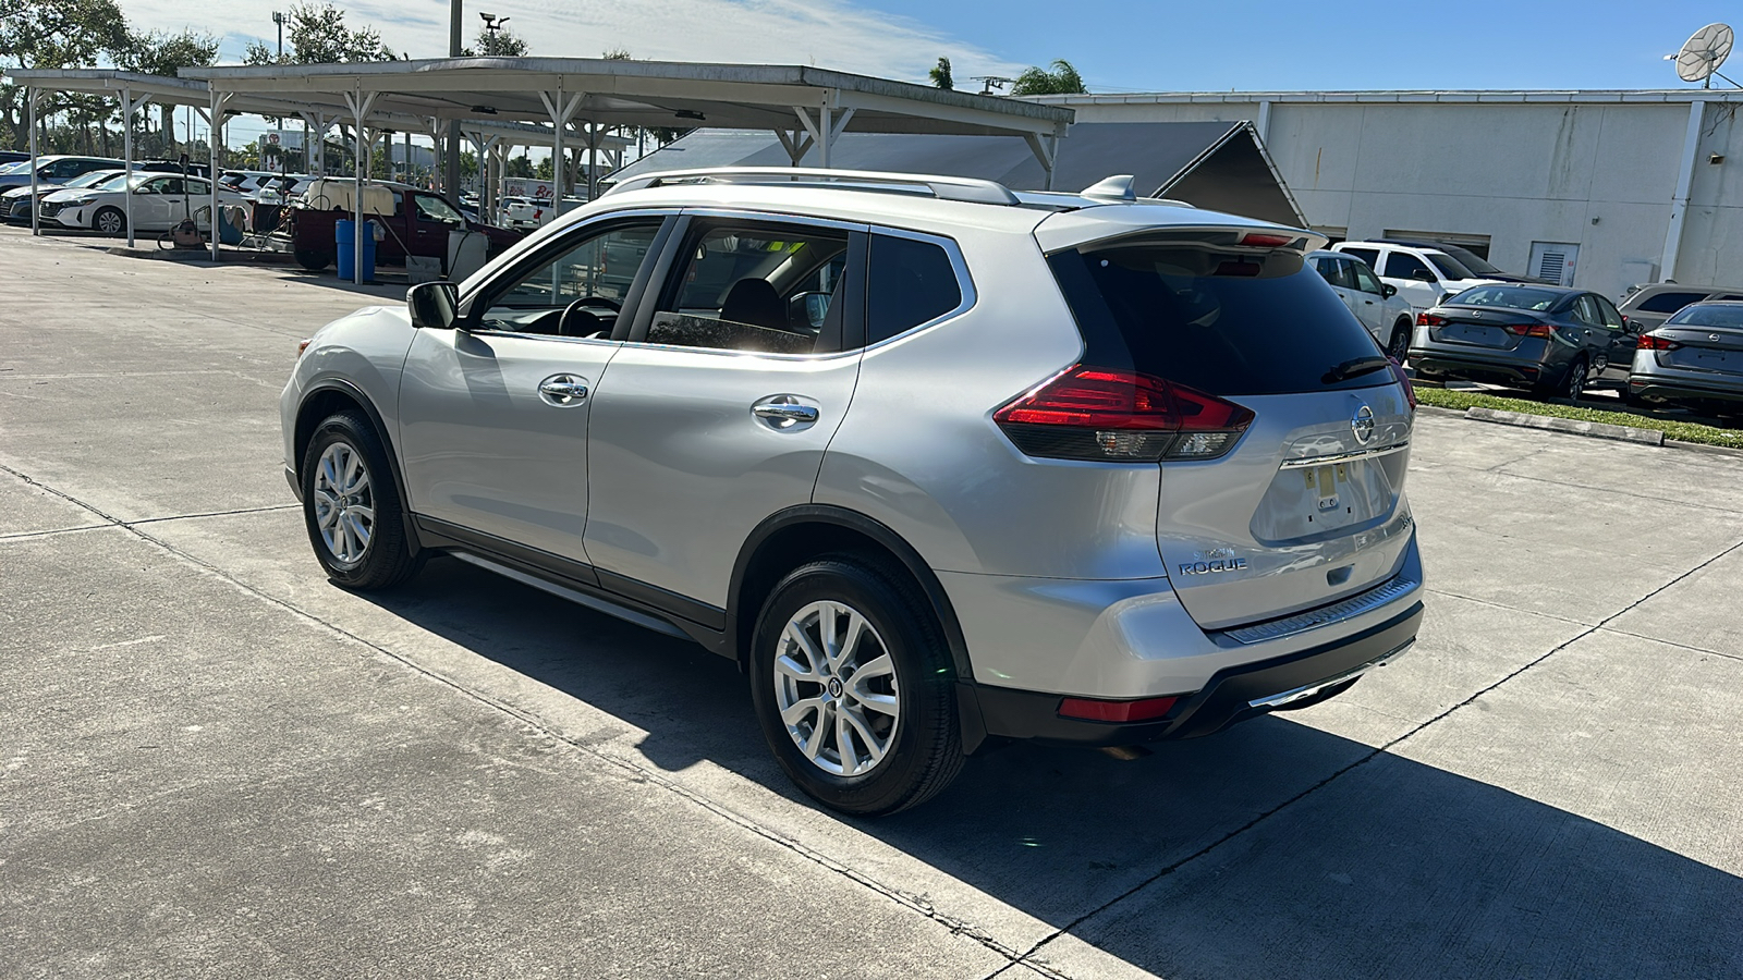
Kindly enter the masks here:
[[1408, 609], [1360, 633], [1293, 654], [1225, 668], [1154, 722], [1061, 718], [1060, 694], [962, 682], [959, 701], [964, 708], [964, 741], [973, 750], [985, 738], [1109, 746], [1208, 736], [1398, 659], [1415, 642], [1421, 626], [1422, 603], [1412, 602]]

